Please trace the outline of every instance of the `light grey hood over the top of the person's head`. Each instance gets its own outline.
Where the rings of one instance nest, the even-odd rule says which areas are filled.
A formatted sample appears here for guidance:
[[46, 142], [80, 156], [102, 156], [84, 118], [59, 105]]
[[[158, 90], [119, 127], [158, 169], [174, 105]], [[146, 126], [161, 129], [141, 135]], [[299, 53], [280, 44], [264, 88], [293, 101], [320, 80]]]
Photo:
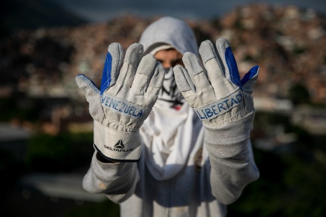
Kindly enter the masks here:
[[189, 51], [198, 55], [198, 45], [193, 30], [183, 20], [162, 17], [151, 23], [143, 32], [139, 43], [144, 54], [162, 44], [172, 45], [181, 54]]

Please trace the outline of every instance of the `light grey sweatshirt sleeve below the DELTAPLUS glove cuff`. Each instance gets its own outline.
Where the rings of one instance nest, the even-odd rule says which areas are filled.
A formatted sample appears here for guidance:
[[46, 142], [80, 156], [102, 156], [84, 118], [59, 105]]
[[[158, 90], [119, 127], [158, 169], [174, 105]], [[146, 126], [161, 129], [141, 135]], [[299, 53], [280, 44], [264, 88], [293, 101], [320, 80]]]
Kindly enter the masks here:
[[134, 192], [139, 174], [137, 163], [102, 163], [94, 152], [83, 188], [90, 193], [104, 193], [115, 203], [128, 199]]

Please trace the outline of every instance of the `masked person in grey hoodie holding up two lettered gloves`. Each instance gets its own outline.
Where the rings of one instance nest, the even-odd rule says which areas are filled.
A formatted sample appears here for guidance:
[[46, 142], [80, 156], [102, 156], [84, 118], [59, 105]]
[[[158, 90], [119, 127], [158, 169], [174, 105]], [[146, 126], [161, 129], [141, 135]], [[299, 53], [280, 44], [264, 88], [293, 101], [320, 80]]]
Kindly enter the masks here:
[[84, 189], [119, 203], [121, 216], [226, 216], [259, 177], [250, 141], [258, 66], [241, 80], [227, 40], [198, 48], [173, 17], [122, 56], [118, 43], [108, 47], [100, 90], [76, 77], [94, 118]]

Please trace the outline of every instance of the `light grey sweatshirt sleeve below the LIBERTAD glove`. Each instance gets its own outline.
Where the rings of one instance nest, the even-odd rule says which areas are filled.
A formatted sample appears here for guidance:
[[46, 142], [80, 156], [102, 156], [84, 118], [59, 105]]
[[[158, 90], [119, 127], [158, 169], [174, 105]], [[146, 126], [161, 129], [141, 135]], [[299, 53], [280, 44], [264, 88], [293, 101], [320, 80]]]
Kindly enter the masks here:
[[250, 142], [253, 119], [251, 112], [220, 126], [205, 126], [212, 194], [223, 204], [236, 201], [244, 187], [259, 178]]

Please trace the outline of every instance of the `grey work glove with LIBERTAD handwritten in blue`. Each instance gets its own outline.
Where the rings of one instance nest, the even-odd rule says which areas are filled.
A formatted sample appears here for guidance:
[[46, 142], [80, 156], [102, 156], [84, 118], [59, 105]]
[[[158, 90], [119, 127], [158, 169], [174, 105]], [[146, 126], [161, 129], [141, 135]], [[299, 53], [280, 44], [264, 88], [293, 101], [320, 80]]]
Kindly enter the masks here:
[[207, 73], [191, 52], [182, 57], [185, 69], [178, 65], [173, 71], [181, 94], [203, 125], [213, 128], [253, 112], [252, 86], [259, 67], [241, 80], [230, 44], [223, 38], [216, 40], [216, 48], [209, 40], [202, 42], [199, 53]]

